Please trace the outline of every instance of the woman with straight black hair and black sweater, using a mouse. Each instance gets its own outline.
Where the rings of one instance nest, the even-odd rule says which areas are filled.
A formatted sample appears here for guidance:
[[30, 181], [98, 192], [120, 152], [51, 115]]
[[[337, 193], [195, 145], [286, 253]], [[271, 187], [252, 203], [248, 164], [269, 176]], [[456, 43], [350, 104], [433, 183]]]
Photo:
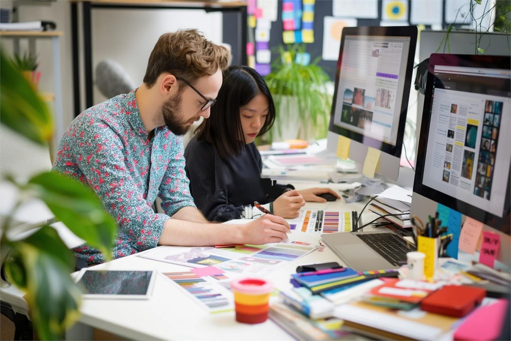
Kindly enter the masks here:
[[264, 79], [248, 66], [230, 66], [211, 116], [195, 131], [184, 152], [195, 204], [208, 220], [252, 218], [267, 211], [295, 218], [305, 201], [325, 202], [329, 188], [297, 191], [261, 178], [263, 163], [254, 140], [275, 121], [275, 106]]

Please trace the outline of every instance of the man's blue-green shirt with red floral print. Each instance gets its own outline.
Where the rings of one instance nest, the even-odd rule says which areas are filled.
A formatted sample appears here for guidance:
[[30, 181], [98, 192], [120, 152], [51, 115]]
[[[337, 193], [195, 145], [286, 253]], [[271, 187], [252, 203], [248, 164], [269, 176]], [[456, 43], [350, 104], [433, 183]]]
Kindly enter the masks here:
[[[133, 90], [82, 112], [64, 133], [53, 169], [100, 197], [118, 224], [113, 257], [120, 258], [157, 246], [167, 219], [195, 207], [184, 165], [181, 139], [166, 126], [149, 140]], [[152, 208], [157, 195], [166, 214]], [[105, 261], [85, 244], [75, 252], [89, 264]]]

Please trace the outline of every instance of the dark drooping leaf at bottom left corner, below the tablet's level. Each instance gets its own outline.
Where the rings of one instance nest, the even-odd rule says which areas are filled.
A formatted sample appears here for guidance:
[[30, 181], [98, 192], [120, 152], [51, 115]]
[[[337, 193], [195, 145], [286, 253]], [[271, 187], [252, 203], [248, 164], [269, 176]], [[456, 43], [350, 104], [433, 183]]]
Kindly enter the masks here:
[[[36, 239], [52, 243], [32, 243]], [[61, 249], [62, 245], [55, 230], [45, 226], [26, 240], [10, 242], [12, 254], [5, 262], [9, 279], [26, 292], [31, 320], [44, 340], [61, 339], [79, 316], [81, 291], [69, 276], [69, 264], [61, 262], [52, 250], [54, 246]], [[71, 251], [65, 251], [72, 258]], [[26, 282], [17, 282], [17, 276], [13, 276], [19, 268], [25, 269]]]

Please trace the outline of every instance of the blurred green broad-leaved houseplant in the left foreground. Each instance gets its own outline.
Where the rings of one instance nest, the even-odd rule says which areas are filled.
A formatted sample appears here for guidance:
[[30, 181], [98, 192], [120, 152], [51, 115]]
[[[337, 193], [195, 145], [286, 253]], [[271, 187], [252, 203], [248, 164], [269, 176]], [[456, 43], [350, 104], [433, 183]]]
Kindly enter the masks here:
[[[39, 145], [48, 145], [54, 124], [47, 105], [2, 50], [0, 69], [0, 123]], [[13, 238], [9, 233], [14, 230], [13, 216], [27, 200], [41, 200], [56, 219], [100, 249], [107, 259], [112, 258], [115, 220], [94, 192], [63, 174], [41, 172], [23, 182], [9, 174], [2, 174], [2, 178], [18, 192], [12, 210], [2, 217], [0, 232], [2, 248], [10, 250], [4, 261], [7, 278], [26, 293], [39, 338], [60, 339], [79, 316], [81, 291], [70, 276], [73, 253], [48, 225], [25, 239]]]

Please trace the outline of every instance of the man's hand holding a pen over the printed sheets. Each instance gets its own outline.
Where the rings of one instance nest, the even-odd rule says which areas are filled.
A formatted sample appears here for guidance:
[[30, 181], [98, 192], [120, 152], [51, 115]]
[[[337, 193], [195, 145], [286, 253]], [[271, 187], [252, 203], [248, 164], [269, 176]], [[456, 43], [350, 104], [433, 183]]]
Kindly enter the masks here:
[[266, 214], [248, 224], [240, 225], [243, 244], [261, 245], [288, 241], [289, 224], [284, 218]]

